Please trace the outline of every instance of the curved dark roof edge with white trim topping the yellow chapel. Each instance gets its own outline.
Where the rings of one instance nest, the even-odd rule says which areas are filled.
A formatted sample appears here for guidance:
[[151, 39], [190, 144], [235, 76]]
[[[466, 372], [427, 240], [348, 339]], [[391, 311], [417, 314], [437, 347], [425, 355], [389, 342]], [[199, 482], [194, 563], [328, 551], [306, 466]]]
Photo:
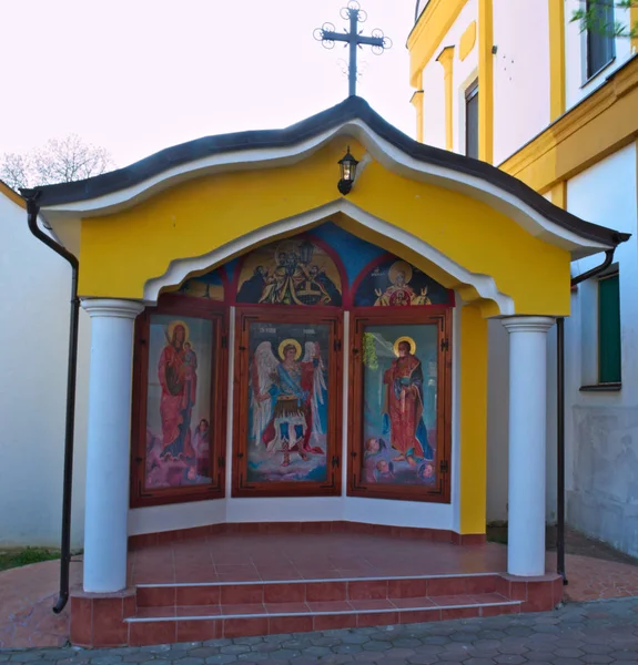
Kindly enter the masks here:
[[533, 236], [570, 252], [573, 258], [609, 249], [629, 237], [567, 213], [485, 162], [417, 143], [359, 98], [348, 98], [284, 130], [209, 136], [112, 173], [41, 187], [38, 203], [41, 215], [53, 225], [108, 215], [203, 175], [297, 164], [340, 136], [356, 139], [367, 151], [359, 170], [375, 160], [404, 177], [482, 201]]

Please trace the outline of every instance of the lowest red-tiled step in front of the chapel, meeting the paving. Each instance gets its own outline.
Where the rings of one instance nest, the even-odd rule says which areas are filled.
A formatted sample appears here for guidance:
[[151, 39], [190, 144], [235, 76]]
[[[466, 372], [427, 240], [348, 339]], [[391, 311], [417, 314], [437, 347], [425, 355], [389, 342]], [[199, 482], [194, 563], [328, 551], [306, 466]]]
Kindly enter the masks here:
[[276, 635], [469, 618], [519, 613], [521, 601], [498, 593], [398, 598], [196, 604], [138, 607], [129, 624], [129, 644], [195, 642], [221, 637]]

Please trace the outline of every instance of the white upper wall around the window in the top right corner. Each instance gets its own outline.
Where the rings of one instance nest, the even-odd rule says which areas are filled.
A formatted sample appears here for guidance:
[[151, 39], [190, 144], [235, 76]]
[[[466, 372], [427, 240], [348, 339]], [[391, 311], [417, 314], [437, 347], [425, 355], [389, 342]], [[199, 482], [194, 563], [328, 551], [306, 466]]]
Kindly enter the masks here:
[[[546, 4], [546, 3], [545, 3]], [[616, 58], [593, 79], [587, 79], [587, 40], [579, 23], [571, 22], [574, 11], [583, 9], [581, 0], [565, 0], [565, 99], [567, 110], [599, 88], [609, 74], [627, 62], [631, 43], [627, 38], [615, 40]], [[630, 25], [629, 10], [615, 9], [615, 20]]]

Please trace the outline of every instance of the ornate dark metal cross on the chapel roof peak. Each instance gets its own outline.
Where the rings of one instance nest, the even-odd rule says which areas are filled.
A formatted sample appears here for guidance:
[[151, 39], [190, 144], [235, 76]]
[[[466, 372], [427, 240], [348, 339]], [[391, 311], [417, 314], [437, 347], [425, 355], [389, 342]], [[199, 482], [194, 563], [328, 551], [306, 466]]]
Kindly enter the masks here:
[[367, 19], [367, 13], [361, 9], [361, 4], [356, 0], [351, 0], [347, 7], [341, 10], [342, 19], [350, 21], [350, 31], [344, 30], [337, 32], [332, 23], [324, 23], [322, 28], [314, 31], [314, 38], [321, 41], [326, 49], [334, 49], [335, 42], [345, 42], [350, 45], [350, 65], [348, 65], [348, 94], [356, 94], [356, 50], [362, 45], [372, 47], [372, 52], [375, 55], [381, 55], [386, 49], [392, 48], [392, 41], [385, 37], [383, 31], [375, 28], [371, 37], [364, 37], [363, 30], [359, 32], [358, 23], [364, 23]]

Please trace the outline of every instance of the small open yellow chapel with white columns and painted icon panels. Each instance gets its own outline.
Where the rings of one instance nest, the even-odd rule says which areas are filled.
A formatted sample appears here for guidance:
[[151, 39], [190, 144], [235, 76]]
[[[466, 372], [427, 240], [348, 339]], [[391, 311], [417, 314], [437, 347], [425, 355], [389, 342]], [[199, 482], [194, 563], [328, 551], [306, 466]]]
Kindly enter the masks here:
[[[71, 641], [489, 616], [546, 562], [546, 337], [618, 235], [358, 96], [32, 193], [91, 319]], [[509, 337], [486, 543], [488, 323]]]

